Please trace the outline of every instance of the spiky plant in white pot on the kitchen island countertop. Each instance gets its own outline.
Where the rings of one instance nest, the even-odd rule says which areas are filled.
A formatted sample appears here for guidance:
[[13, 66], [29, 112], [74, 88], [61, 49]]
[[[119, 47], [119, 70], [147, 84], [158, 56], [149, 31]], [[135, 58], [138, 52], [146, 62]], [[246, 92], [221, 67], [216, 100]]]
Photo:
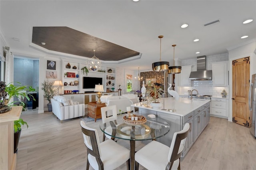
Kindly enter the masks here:
[[148, 101], [150, 102], [150, 105], [153, 107], [153, 109], [158, 109], [162, 106], [160, 99], [163, 93], [164, 90], [160, 87], [157, 87], [156, 85], [146, 89], [146, 96], [148, 97]]

